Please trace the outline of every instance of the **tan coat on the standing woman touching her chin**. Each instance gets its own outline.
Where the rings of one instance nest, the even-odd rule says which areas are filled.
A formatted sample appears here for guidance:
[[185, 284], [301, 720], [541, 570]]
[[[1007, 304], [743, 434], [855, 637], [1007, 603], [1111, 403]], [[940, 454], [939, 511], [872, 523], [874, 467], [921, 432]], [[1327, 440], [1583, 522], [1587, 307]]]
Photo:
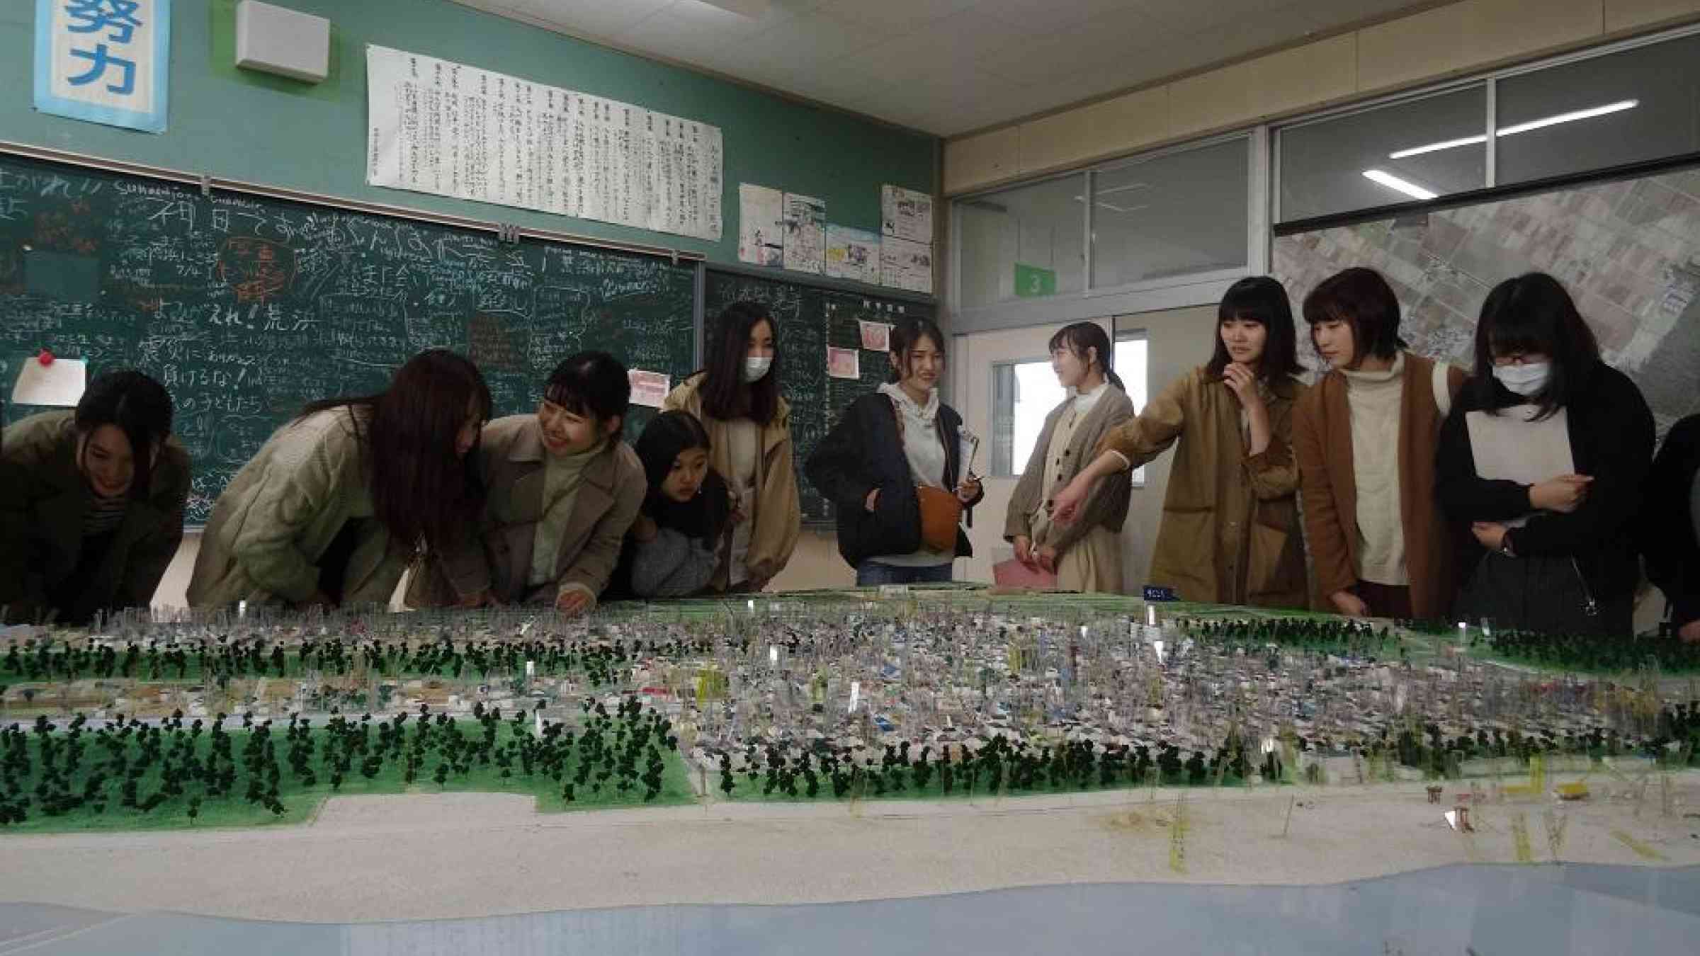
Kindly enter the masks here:
[[1270, 446], [1246, 454], [1239, 400], [1204, 367], [1182, 376], [1098, 446], [1134, 468], [1175, 446], [1163, 524], [1149, 583], [1182, 600], [1304, 607], [1304, 543], [1299, 538], [1292, 458], [1292, 408], [1306, 386], [1277, 383], [1265, 396]]

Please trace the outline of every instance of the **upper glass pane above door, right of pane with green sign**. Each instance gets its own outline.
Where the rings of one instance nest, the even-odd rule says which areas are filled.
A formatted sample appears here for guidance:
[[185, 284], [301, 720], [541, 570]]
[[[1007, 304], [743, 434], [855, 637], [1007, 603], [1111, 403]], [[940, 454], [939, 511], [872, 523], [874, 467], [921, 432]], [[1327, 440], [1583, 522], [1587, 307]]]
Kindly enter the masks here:
[[1093, 287], [1244, 267], [1250, 156], [1246, 139], [1231, 139], [1100, 168]]

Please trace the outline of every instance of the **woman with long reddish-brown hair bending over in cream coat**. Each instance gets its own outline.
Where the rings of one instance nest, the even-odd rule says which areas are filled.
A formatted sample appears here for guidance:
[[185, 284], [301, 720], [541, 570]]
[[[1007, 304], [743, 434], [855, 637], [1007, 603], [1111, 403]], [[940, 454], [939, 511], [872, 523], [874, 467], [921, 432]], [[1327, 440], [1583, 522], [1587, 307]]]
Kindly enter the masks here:
[[484, 376], [445, 350], [377, 395], [308, 405], [212, 505], [189, 604], [388, 604], [483, 507], [468, 458], [488, 417]]

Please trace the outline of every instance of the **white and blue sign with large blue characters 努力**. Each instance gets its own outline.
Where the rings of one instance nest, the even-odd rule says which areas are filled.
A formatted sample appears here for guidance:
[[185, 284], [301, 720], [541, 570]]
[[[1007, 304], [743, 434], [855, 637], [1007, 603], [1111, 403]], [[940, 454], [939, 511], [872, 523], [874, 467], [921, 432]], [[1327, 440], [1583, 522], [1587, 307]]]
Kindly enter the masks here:
[[36, 0], [36, 109], [165, 131], [172, 0]]

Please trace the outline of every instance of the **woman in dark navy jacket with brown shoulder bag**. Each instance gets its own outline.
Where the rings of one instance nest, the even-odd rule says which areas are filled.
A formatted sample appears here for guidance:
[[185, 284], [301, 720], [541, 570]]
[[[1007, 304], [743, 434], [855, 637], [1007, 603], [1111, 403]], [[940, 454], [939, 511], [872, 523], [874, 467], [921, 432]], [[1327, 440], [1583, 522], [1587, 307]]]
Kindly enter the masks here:
[[947, 582], [974, 549], [962, 514], [984, 497], [978, 441], [938, 400], [945, 335], [928, 318], [891, 330], [891, 381], [850, 403], [809, 456], [808, 475], [838, 512], [838, 553], [857, 587]]

